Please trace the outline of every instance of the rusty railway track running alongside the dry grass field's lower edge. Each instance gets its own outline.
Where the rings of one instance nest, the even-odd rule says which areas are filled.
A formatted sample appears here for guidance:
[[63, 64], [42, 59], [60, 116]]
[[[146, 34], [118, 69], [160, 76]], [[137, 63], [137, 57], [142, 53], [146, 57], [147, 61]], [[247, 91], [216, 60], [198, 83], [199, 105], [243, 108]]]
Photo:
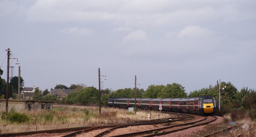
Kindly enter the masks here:
[[[163, 112], [163, 113], [170, 113], [170, 112]], [[177, 114], [177, 113], [170, 113], [170, 114]], [[170, 118], [168, 118], [170, 119]], [[22, 136], [22, 135], [31, 135], [31, 134], [38, 134], [38, 133], [64, 133], [64, 132], [72, 132], [68, 133], [66, 135], [63, 135], [63, 137], [68, 136], [74, 136], [76, 134], [82, 133], [82, 132], [88, 132], [95, 129], [101, 129], [101, 128], [112, 128], [112, 127], [118, 127], [118, 126], [134, 126], [134, 125], [150, 125], [150, 124], [161, 124], [166, 123], [168, 119], [153, 119], [153, 120], [136, 120], [132, 121], [127, 124], [113, 124], [108, 126], [85, 126], [85, 127], [76, 127], [76, 128], [64, 128], [64, 129], [52, 129], [52, 130], [41, 130], [41, 131], [31, 131], [31, 132], [19, 132], [19, 133], [4, 133], [0, 134], [0, 137], [8, 137], [8, 136]], [[182, 114], [180, 115], [180, 118], [172, 118], [174, 121], [181, 121], [184, 119], [193, 119], [193, 117]]]

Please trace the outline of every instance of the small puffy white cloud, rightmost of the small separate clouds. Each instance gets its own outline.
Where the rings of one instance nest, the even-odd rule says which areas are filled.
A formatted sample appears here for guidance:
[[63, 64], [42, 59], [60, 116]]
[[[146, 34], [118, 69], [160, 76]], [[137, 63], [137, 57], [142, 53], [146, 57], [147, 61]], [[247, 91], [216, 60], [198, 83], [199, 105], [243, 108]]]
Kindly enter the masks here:
[[210, 35], [212, 35], [212, 32], [208, 28], [202, 28], [200, 26], [187, 26], [177, 34], [179, 38], [204, 37]]

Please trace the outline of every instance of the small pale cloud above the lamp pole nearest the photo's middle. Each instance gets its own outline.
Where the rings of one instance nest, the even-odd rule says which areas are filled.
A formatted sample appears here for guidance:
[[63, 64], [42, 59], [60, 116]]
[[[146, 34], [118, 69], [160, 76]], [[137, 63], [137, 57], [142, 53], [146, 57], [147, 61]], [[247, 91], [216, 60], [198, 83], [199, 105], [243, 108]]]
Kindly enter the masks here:
[[143, 30], [137, 30], [129, 33], [124, 37], [123, 42], [128, 41], [145, 41], [147, 40], [147, 33]]

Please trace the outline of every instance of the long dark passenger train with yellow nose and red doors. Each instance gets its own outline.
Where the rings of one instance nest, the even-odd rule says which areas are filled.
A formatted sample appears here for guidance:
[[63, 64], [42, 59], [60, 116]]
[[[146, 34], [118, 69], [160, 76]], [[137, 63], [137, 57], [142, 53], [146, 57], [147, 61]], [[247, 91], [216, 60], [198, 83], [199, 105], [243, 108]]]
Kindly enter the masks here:
[[[191, 98], [136, 98], [136, 108], [144, 110], [195, 113], [213, 115], [216, 109], [215, 98], [210, 95]], [[129, 108], [135, 107], [135, 98], [108, 98], [108, 107]]]

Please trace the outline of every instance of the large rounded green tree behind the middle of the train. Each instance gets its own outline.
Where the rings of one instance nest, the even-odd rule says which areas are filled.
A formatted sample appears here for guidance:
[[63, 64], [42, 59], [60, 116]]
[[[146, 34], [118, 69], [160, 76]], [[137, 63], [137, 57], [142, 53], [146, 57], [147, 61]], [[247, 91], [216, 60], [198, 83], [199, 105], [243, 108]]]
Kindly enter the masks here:
[[167, 84], [157, 95], [158, 98], [183, 98], [187, 93], [178, 83]]

